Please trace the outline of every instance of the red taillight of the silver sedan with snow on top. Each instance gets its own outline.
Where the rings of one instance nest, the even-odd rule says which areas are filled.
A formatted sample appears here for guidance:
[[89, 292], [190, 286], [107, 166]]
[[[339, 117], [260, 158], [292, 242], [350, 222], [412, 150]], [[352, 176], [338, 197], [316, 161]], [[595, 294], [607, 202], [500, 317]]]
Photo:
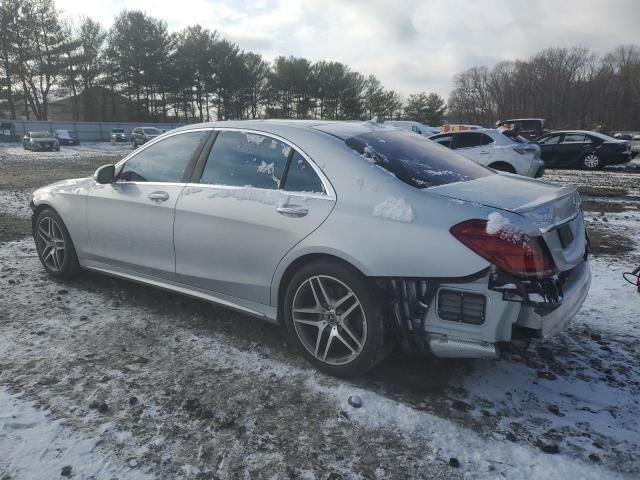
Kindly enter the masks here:
[[467, 220], [451, 234], [481, 257], [519, 277], [542, 278], [553, 274], [553, 263], [538, 239], [520, 231], [487, 232], [486, 220]]

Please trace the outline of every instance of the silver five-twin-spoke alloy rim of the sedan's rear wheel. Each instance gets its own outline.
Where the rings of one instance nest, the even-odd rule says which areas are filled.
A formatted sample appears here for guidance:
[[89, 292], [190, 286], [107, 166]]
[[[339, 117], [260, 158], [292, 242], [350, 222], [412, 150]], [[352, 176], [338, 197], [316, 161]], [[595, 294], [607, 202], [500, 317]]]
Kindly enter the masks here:
[[328, 275], [305, 280], [293, 298], [293, 326], [304, 348], [321, 362], [345, 365], [367, 339], [367, 319], [356, 294]]

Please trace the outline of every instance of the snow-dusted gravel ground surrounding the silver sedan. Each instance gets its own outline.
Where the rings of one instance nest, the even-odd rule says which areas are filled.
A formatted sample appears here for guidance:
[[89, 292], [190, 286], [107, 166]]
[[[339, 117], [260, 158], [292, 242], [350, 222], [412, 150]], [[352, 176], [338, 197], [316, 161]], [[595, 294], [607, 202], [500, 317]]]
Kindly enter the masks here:
[[579, 185], [594, 244], [566, 332], [498, 361], [395, 354], [345, 382], [258, 320], [93, 274], [49, 279], [30, 192], [127, 150], [18, 153], [0, 145], [0, 479], [640, 475], [640, 296], [621, 280], [640, 265], [640, 176], [545, 177]]

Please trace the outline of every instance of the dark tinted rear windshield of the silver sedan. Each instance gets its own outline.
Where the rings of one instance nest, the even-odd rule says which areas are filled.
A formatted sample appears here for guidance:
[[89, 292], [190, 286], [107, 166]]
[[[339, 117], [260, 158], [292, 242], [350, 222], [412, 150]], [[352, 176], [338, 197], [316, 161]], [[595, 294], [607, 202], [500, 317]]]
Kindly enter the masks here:
[[416, 188], [465, 182], [494, 173], [427, 138], [399, 130], [347, 138], [353, 150]]

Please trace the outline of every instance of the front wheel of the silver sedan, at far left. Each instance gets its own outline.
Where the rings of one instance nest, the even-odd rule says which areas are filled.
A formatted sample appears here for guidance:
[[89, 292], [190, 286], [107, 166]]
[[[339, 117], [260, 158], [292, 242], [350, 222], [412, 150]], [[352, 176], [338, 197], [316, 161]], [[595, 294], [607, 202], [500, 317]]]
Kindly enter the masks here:
[[[47, 240], [47, 233], [49, 240]], [[67, 278], [80, 272], [80, 263], [69, 231], [55, 210], [47, 208], [40, 212], [33, 227], [33, 238], [36, 242], [40, 263], [49, 275]], [[52, 238], [61, 238], [64, 241], [64, 246], [61, 246], [59, 251], [54, 252], [53, 255], [51, 255], [51, 245], [56, 243], [60, 246], [61, 244], [58, 240], [50, 241]], [[56, 268], [55, 265], [58, 267]]]

